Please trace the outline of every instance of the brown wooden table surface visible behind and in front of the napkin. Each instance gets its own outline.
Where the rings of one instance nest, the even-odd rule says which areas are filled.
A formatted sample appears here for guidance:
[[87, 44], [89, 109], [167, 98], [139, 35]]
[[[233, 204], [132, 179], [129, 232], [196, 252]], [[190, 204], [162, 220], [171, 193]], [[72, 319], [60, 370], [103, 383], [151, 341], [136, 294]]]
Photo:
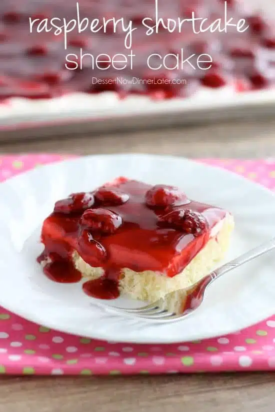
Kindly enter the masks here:
[[[0, 143], [0, 153], [143, 152], [275, 157], [275, 119]], [[136, 377], [2, 377], [0, 412], [272, 412], [275, 373]]]

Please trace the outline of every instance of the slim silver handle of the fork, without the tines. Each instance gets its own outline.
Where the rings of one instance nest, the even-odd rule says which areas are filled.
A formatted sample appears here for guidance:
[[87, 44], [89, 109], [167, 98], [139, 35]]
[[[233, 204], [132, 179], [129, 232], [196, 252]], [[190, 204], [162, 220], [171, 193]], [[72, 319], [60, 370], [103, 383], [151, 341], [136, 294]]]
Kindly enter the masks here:
[[238, 266], [241, 266], [244, 263], [249, 262], [252, 259], [255, 259], [256, 257], [261, 256], [272, 249], [275, 249], [275, 238], [263, 243], [260, 246], [255, 247], [254, 249], [249, 250], [248, 252], [243, 253], [243, 255], [240, 255], [237, 258], [231, 260], [230, 262], [227, 262], [224, 265], [220, 266], [213, 272], [213, 278], [218, 278], [219, 276], [222, 276], [229, 270], [237, 268]]

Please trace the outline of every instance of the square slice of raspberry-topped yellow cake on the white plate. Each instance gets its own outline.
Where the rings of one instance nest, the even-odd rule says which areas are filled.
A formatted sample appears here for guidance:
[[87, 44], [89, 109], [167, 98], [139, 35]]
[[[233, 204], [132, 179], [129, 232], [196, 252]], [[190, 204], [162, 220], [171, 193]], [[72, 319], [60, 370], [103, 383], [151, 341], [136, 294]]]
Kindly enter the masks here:
[[232, 216], [178, 188], [123, 177], [55, 203], [37, 261], [56, 282], [99, 299], [154, 302], [208, 274], [229, 244]]

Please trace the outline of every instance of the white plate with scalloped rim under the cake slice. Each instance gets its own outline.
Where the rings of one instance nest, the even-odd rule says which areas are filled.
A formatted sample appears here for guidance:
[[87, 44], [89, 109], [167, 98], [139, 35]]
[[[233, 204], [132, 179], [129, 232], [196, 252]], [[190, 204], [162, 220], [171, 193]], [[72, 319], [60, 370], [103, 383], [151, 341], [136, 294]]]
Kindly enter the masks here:
[[[183, 158], [142, 154], [89, 156], [42, 166], [0, 184], [0, 304], [4, 308], [60, 331], [131, 343], [172, 343], [220, 336], [274, 314], [272, 253], [216, 281], [193, 316], [169, 325], [114, 315], [85, 296], [80, 284], [48, 280], [35, 258], [40, 250], [41, 222], [54, 202], [121, 175], [149, 183], [174, 184], [191, 198], [231, 211], [236, 228], [228, 258], [275, 234], [275, 196], [222, 169]], [[112, 304], [131, 304], [119, 300]]]

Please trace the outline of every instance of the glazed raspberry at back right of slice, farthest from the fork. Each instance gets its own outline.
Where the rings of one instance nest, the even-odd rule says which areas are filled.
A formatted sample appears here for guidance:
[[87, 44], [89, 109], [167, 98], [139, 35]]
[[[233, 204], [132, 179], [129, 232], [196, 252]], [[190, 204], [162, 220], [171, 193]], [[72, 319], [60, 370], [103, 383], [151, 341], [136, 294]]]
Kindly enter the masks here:
[[186, 204], [190, 201], [185, 193], [177, 187], [167, 185], [155, 185], [145, 194], [145, 202], [149, 207], [167, 207]]

